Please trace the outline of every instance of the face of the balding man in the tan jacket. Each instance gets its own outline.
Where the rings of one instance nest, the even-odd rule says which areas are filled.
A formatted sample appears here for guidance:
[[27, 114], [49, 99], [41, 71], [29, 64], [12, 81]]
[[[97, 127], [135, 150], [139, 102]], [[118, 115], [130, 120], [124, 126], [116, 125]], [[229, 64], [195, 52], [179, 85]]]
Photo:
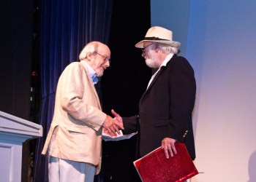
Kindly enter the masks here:
[[110, 50], [107, 46], [100, 46], [97, 52], [92, 53], [91, 68], [96, 72], [96, 76], [100, 77], [106, 68], [110, 67]]

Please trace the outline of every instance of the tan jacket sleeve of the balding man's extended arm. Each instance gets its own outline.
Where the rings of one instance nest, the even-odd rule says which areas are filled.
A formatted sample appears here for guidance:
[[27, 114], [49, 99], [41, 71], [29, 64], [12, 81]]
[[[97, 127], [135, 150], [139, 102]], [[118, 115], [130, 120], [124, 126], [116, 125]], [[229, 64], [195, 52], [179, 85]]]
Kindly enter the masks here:
[[106, 114], [101, 111], [99, 98], [80, 64], [71, 64], [64, 70], [58, 87], [61, 108], [74, 119], [99, 130]]

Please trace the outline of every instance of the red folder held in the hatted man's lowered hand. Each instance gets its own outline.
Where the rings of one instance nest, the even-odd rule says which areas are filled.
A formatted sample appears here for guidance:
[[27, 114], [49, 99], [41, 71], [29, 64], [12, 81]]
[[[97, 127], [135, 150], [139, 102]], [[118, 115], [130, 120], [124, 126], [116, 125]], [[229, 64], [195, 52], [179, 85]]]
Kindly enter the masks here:
[[177, 154], [169, 159], [159, 147], [133, 162], [143, 182], [181, 182], [198, 174], [184, 143], [176, 142], [175, 147]]

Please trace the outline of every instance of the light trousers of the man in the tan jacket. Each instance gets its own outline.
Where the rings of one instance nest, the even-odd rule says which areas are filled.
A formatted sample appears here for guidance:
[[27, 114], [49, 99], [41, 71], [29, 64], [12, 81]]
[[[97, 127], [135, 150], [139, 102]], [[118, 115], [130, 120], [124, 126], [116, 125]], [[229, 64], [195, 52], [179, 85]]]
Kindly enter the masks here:
[[95, 166], [49, 156], [49, 182], [93, 182]]

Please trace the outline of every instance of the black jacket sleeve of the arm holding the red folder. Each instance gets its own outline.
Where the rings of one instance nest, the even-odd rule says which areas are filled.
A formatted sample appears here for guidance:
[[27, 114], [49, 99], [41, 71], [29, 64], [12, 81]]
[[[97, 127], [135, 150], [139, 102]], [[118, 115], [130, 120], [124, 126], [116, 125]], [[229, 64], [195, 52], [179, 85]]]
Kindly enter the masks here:
[[170, 138], [184, 141], [192, 132], [192, 110], [195, 103], [195, 76], [187, 60], [178, 57], [170, 71]]

